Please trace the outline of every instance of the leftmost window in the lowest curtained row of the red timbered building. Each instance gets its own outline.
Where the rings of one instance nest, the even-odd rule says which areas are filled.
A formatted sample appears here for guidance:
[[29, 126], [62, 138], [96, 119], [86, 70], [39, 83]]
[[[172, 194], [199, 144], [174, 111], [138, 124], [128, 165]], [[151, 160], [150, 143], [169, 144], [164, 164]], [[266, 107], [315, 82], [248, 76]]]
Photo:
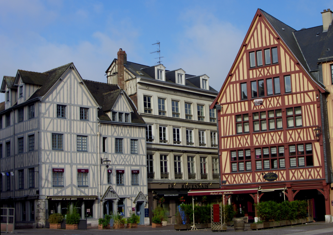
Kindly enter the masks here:
[[231, 151], [231, 171], [250, 171], [251, 167], [251, 150]]

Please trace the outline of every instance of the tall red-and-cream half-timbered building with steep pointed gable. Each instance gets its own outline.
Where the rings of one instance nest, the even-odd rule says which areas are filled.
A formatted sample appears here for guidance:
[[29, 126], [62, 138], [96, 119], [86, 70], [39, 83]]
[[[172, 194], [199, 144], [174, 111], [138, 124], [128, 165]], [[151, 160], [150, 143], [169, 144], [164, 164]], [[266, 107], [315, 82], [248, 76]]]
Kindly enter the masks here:
[[[315, 220], [331, 215], [321, 111], [329, 92], [307, 66], [295, 31], [258, 9], [210, 107], [218, 112], [221, 190], [250, 221], [258, 199], [310, 200]], [[259, 187], [259, 195], [233, 191]]]

